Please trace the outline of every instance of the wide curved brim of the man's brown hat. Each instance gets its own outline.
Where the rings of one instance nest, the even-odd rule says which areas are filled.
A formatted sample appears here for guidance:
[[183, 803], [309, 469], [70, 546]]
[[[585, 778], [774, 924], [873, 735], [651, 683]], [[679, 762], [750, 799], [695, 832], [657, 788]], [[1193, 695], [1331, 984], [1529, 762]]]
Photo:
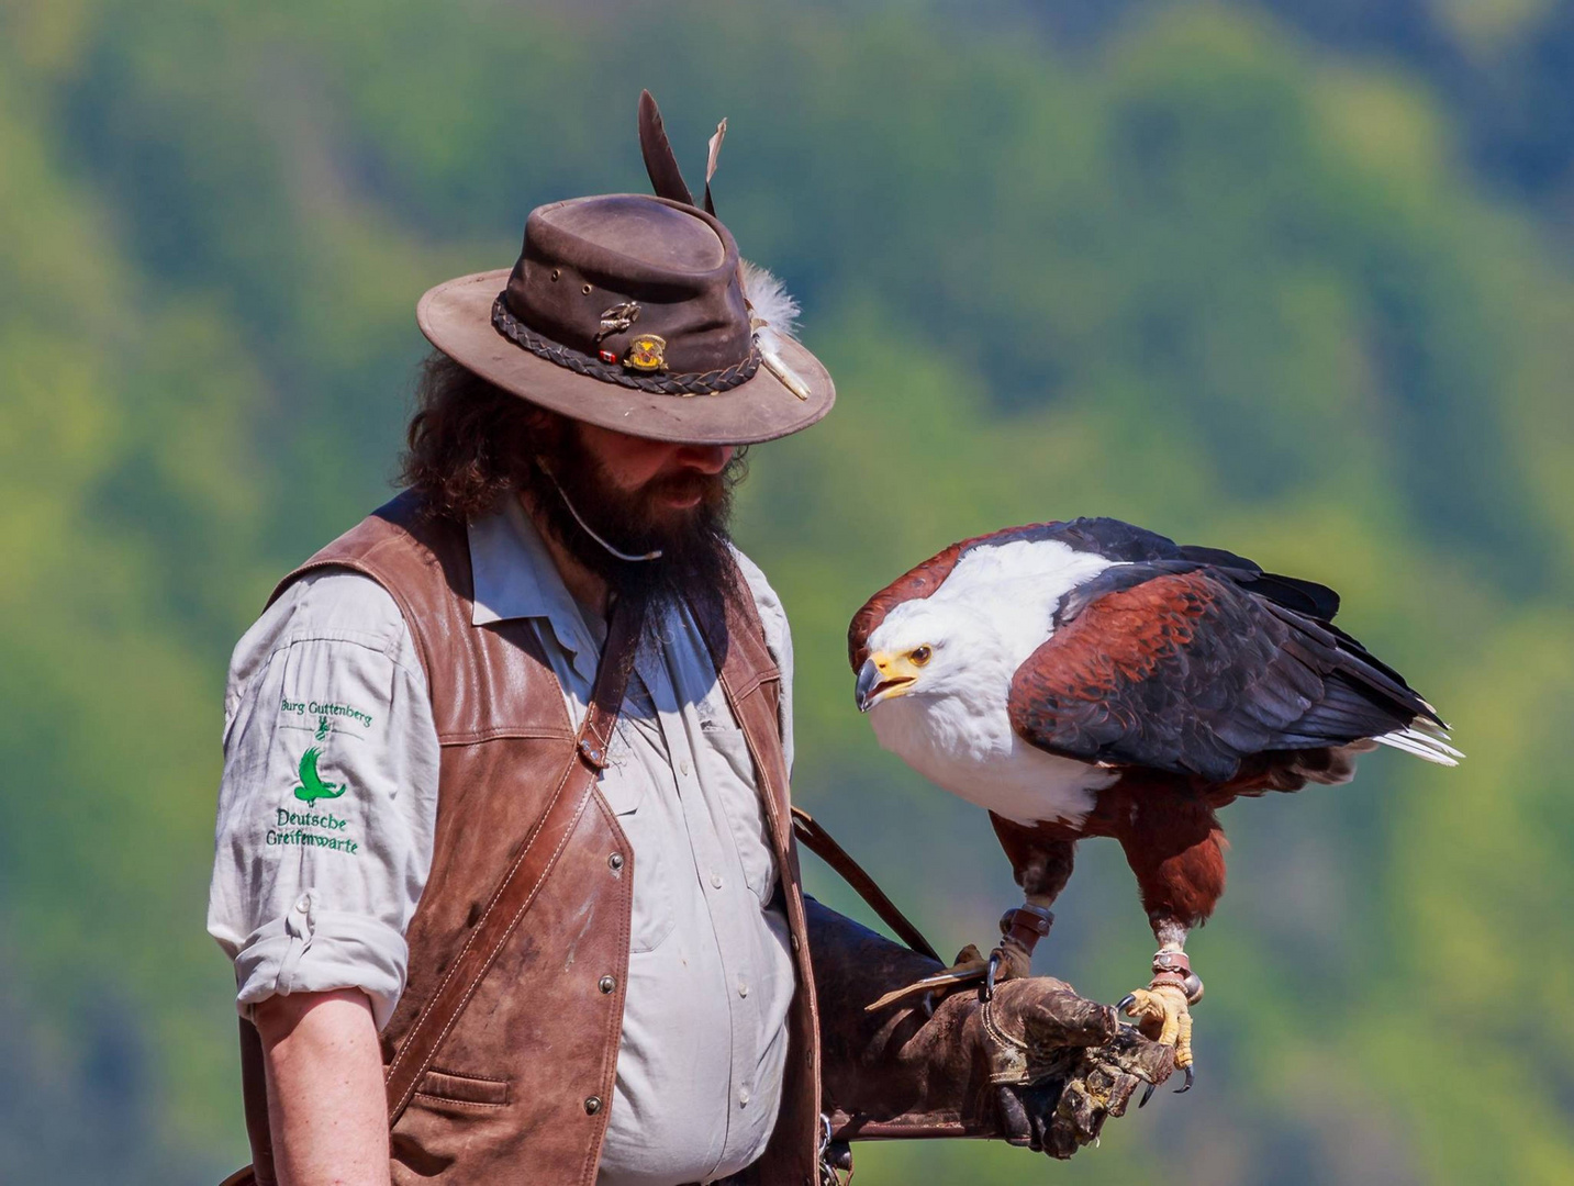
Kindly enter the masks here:
[[771, 371], [715, 395], [661, 395], [578, 374], [508, 341], [493, 329], [493, 300], [508, 269], [461, 275], [430, 289], [416, 321], [439, 351], [483, 379], [534, 404], [601, 428], [685, 445], [749, 445], [776, 440], [815, 423], [836, 403], [829, 373], [796, 341], [782, 343], [782, 362], [809, 392], [801, 400]]

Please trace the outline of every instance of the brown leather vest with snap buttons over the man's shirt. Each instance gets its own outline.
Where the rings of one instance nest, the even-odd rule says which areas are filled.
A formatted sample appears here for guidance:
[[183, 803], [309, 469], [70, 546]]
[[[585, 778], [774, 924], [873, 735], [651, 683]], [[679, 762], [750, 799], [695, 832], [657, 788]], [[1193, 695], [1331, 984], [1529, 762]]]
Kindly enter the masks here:
[[[406, 492], [280, 582], [349, 568], [398, 602], [427, 672], [442, 747], [431, 875], [411, 920], [409, 983], [382, 1032], [389, 1065], [575, 758], [562, 689], [527, 621], [471, 623], [463, 525]], [[748, 1178], [811, 1186], [820, 1054], [809, 937], [778, 724], [781, 672], [738, 577], [726, 620], [696, 615], [765, 796], [798, 991], [770, 1147]], [[606, 1134], [628, 972], [634, 854], [601, 797], [586, 810], [523, 923], [438, 1049], [392, 1133], [394, 1181], [590, 1183]], [[258, 1170], [271, 1164], [253, 1118]], [[266, 1183], [268, 1178], [258, 1175]]]

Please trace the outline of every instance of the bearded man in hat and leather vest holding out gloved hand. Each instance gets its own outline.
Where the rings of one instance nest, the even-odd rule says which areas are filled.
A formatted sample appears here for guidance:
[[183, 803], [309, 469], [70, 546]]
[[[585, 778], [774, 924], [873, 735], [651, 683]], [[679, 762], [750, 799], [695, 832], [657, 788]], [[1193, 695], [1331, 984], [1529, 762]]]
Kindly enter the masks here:
[[1168, 1071], [1053, 980], [866, 1011], [935, 961], [803, 897], [787, 620], [726, 532], [741, 447], [834, 400], [787, 313], [630, 195], [422, 299], [408, 489], [230, 670], [257, 1181], [798, 1184], [831, 1128], [1067, 1156]]

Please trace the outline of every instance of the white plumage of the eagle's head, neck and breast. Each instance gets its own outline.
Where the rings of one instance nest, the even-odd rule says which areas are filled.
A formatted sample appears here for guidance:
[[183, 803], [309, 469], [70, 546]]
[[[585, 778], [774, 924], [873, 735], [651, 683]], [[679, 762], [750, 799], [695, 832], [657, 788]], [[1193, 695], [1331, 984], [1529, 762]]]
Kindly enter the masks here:
[[1045, 753], [1011, 727], [1017, 669], [1053, 634], [1067, 591], [1113, 562], [1058, 540], [1014, 540], [968, 552], [929, 598], [892, 609], [869, 635], [875, 651], [932, 646], [905, 695], [880, 702], [880, 744], [938, 786], [1020, 823], [1078, 824], [1119, 774]]

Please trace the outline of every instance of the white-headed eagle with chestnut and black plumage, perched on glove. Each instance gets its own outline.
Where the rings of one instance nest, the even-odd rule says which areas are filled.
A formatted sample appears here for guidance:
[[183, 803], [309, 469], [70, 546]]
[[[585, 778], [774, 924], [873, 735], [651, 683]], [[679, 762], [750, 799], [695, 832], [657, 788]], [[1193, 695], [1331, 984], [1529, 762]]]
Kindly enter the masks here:
[[[859, 709], [885, 749], [988, 808], [1026, 897], [1001, 920], [985, 991], [996, 969], [1026, 975], [1077, 842], [1114, 837], [1158, 941], [1149, 986], [1121, 1007], [1192, 1085], [1203, 982], [1184, 947], [1225, 892], [1215, 810], [1349, 782], [1377, 744], [1462, 757], [1435, 709], [1333, 624], [1338, 609], [1332, 588], [1231, 552], [1077, 519], [952, 544], [858, 610]], [[959, 963], [919, 986], [984, 971]]]

